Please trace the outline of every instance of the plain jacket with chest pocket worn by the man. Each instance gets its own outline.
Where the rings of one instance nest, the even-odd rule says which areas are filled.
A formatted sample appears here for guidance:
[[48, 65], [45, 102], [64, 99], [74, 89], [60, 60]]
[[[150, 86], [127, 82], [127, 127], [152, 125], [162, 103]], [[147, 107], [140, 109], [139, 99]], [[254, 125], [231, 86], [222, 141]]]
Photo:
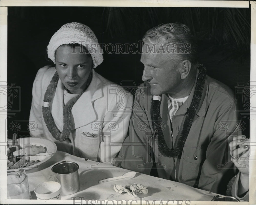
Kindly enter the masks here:
[[[167, 94], [162, 95], [160, 115], [164, 126], [164, 138], [169, 148], [172, 148], [172, 145], [176, 146], [182, 132], [183, 123], [195, 92], [195, 84], [187, 100], [173, 116], [172, 127], [168, 112], [169, 98]], [[233, 167], [228, 145], [231, 136], [240, 134], [236, 129], [239, 121], [234, 110], [231, 89], [206, 76], [199, 110], [193, 119], [182, 156], [178, 159], [178, 157], [165, 157], [158, 150], [157, 134], [152, 126], [150, 115], [152, 100], [150, 86], [146, 83], [143, 85], [144, 87], [138, 87], [135, 95], [139, 97], [135, 97], [129, 135], [119, 153], [120, 165], [137, 172], [150, 174], [153, 161], [155, 161], [159, 177], [175, 180], [175, 162], [178, 182], [225, 194], [226, 184], [230, 179], [227, 168]]]

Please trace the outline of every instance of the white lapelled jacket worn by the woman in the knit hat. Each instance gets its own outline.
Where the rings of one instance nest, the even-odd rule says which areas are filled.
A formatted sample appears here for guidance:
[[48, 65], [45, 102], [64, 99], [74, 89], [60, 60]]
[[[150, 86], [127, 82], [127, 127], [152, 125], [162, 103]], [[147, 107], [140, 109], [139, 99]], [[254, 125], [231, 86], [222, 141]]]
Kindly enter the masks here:
[[[39, 69], [33, 84], [29, 117], [32, 137], [56, 143], [57, 150], [103, 163], [113, 163], [127, 134], [133, 96], [93, 70], [92, 81], [71, 109], [71, 143], [57, 141], [49, 132], [42, 116], [45, 91], [56, 72], [55, 67]], [[49, 103], [57, 128], [63, 130], [63, 93], [60, 79]]]

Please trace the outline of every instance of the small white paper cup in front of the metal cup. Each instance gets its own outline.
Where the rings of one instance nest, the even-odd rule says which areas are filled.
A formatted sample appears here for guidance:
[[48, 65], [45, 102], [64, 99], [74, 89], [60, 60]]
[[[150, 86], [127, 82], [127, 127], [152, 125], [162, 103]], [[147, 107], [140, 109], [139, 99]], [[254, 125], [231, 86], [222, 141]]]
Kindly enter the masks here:
[[57, 181], [47, 181], [34, 189], [37, 199], [60, 199], [61, 185]]

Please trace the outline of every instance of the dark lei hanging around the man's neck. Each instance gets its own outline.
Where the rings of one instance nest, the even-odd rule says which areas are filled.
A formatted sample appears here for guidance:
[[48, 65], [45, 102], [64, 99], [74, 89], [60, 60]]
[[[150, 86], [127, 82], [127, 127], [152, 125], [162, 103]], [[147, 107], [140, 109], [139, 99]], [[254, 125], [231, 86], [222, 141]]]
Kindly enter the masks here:
[[[192, 126], [192, 122], [194, 120], [196, 111], [198, 110], [199, 104], [201, 102], [202, 93], [204, 90], [204, 84], [205, 84], [205, 78], [206, 78], [206, 68], [203, 65], [199, 64], [198, 69], [199, 69], [199, 74], [197, 77], [197, 82], [196, 82], [193, 99], [189, 106], [189, 110], [188, 110], [187, 116], [186, 116], [184, 124], [183, 124], [182, 132], [180, 133], [177, 145], [174, 149], [173, 148], [170, 149], [167, 146], [161, 126], [159, 126], [159, 123], [156, 123], [156, 122], [162, 121], [162, 118], [160, 116], [161, 101], [153, 100], [153, 96], [152, 96], [151, 111], [150, 111], [151, 119], [153, 121], [152, 126], [155, 129], [155, 131], [157, 132], [158, 150], [165, 157], [176, 157], [176, 156], [178, 156], [179, 158], [181, 157], [184, 144], [188, 137], [188, 133]], [[161, 96], [161, 99], [162, 99], [162, 96]]]

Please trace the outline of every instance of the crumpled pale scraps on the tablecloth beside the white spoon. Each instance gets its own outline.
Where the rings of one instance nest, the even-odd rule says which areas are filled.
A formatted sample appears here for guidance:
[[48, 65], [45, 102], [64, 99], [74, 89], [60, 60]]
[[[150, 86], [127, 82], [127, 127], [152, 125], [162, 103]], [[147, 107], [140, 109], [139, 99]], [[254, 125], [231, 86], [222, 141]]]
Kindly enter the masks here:
[[127, 193], [128, 195], [132, 196], [132, 197], [137, 197], [138, 193], [143, 193], [143, 194], [147, 194], [148, 189], [146, 186], [142, 185], [142, 184], [136, 184], [133, 183], [130, 188], [125, 188], [122, 185], [114, 185], [114, 190], [118, 193]]

